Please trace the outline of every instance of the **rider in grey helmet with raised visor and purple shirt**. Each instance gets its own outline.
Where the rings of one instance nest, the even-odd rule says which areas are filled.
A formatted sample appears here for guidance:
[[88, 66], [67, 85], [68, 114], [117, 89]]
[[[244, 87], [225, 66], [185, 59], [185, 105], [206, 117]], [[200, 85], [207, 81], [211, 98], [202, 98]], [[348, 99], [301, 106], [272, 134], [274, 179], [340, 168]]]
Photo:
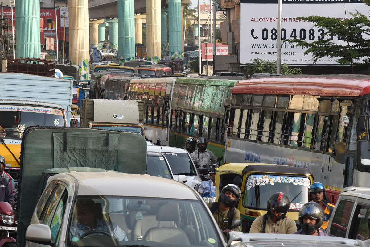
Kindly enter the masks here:
[[293, 234], [306, 234], [328, 236], [320, 226], [324, 221], [324, 210], [320, 204], [310, 201], [305, 203], [299, 210], [298, 222], [301, 226], [299, 231]]

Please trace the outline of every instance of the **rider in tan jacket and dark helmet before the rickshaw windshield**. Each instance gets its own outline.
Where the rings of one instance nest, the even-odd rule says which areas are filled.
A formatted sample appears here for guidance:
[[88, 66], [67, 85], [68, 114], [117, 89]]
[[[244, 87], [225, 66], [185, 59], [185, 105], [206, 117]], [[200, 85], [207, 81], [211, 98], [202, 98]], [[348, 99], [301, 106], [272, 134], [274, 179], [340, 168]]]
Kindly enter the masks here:
[[295, 221], [286, 216], [289, 204], [290, 200], [285, 193], [273, 193], [267, 201], [267, 213], [253, 221], [249, 233], [295, 233]]

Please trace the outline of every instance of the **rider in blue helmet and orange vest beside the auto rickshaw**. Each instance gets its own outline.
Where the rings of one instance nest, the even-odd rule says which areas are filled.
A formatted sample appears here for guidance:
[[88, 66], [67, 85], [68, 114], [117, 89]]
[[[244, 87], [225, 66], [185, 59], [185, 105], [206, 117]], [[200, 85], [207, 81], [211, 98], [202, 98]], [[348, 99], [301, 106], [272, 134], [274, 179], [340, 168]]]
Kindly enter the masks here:
[[328, 203], [329, 200], [326, 198], [325, 187], [322, 183], [316, 182], [310, 186], [310, 198], [323, 208], [325, 215], [321, 228], [326, 230], [330, 216], [332, 216], [334, 210], [334, 205]]

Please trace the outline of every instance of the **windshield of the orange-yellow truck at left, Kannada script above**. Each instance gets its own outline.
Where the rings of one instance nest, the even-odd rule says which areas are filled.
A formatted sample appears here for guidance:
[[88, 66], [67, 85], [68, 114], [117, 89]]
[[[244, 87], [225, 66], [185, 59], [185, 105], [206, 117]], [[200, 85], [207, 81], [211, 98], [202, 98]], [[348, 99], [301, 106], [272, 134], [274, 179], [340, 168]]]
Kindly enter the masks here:
[[[29, 126], [65, 126], [61, 109], [38, 106], [0, 106], [0, 126], [7, 133], [23, 132]], [[18, 135], [18, 134], [17, 134]]]

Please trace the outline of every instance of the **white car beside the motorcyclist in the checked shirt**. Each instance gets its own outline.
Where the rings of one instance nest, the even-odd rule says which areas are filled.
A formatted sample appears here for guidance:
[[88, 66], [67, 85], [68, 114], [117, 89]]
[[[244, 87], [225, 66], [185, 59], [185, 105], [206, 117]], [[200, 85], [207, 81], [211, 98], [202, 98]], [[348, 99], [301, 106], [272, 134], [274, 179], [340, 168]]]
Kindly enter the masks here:
[[174, 174], [174, 180], [179, 180], [180, 175], [185, 175], [188, 180], [185, 184], [198, 189], [202, 180], [188, 151], [184, 148], [167, 146], [147, 146], [147, 148], [148, 152], [164, 154]]

